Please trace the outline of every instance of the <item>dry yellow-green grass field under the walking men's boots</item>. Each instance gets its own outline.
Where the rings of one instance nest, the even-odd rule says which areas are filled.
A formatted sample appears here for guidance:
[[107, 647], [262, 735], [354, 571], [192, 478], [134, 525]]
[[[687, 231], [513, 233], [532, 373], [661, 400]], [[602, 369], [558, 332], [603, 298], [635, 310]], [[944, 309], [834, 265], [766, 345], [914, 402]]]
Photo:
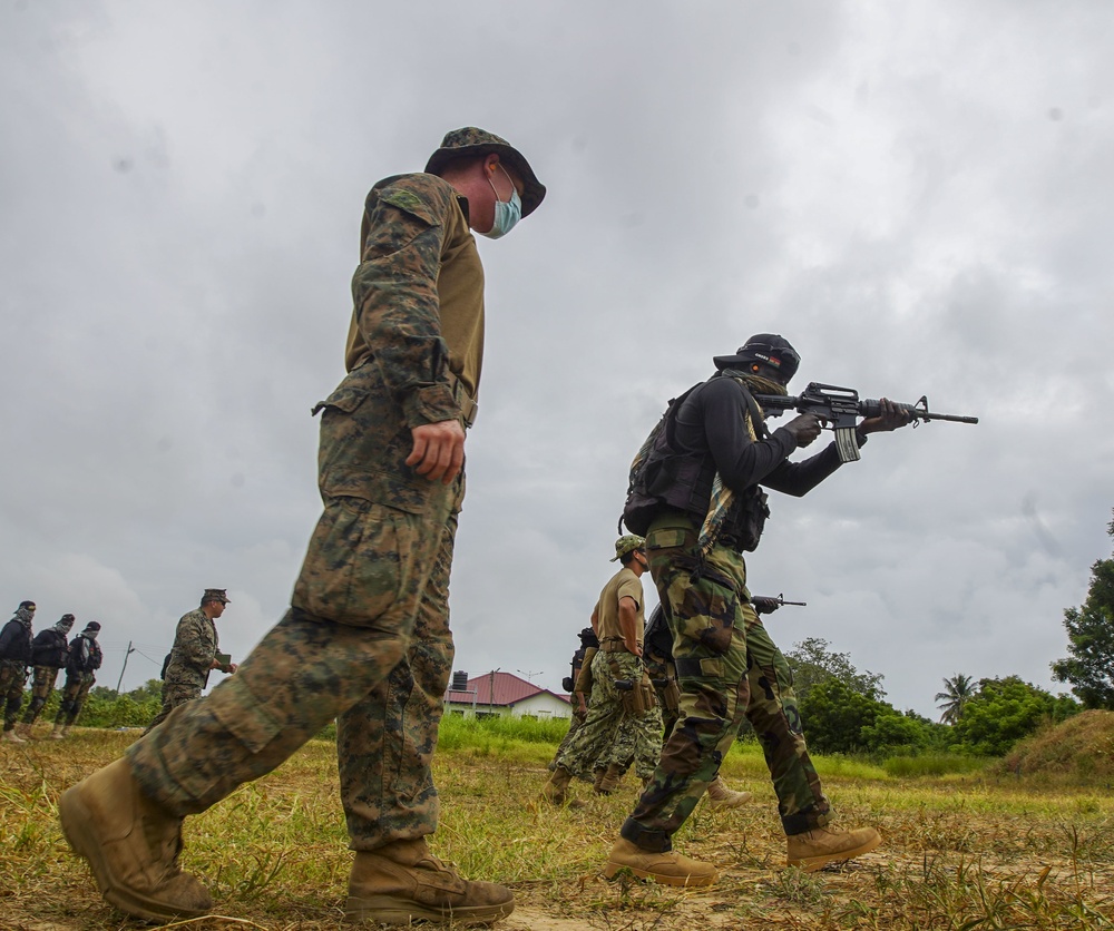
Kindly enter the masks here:
[[[133, 735], [77, 729], [65, 743], [0, 745], [0, 928], [79, 931], [141, 927], [106, 905], [62, 839], [58, 795], [118, 756]], [[439, 754], [434, 852], [470, 876], [515, 889], [504, 931], [668, 929], [1105, 929], [1114, 927], [1110, 785], [1033, 785], [980, 775], [896, 780], [820, 761], [848, 825], [885, 844], [842, 869], [785, 869], [784, 837], [756, 752], [724, 773], [755, 794], [735, 811], [702, 806], [678, 837], [719, 864], [711, 889], [686, 893], [597, 870], [634, 798], [634, 781], [582, 810], [537, 808], [551, 748], [507, 745]], [[214, 915], [176, 928], [340, 928], [351, 854], [336, 802], [335, 751], [324, 741], [186, 825], [184, 865], [203, 876]]]

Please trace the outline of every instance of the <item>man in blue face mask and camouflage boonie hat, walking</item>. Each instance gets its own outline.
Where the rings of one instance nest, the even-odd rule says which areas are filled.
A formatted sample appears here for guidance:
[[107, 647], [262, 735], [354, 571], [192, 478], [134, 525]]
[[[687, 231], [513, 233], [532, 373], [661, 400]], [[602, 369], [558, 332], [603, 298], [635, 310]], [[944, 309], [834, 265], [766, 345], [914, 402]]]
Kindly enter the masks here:
[[430, 761], [452, 668], [449, 570], [483, 343], [471, 229], [502, 236], [545, 192], [517, 149], [468, 127], [424, 173], [369, 194], [349, 374], [314, 409], [324, 512], [291, 610], [235, 676], [59, 800], [71, 845], [130, 914], [206, 912], [208, 891], [177, 866], [183, 816], [271, 772], [334, 718], [355, 851], [346, 917], [475, 923], [514, 908], [509, 889], [463, 880], [426, 837], [438, 820]]

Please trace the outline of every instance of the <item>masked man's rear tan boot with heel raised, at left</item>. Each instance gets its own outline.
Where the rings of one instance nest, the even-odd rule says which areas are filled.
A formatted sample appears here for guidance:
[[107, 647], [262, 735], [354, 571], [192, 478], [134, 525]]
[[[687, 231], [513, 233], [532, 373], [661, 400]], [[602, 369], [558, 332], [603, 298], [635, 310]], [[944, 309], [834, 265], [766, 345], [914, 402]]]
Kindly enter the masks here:
[[75, 853], [89, 861], [105, 901], [136, 918], [205, 914], [208, 891], [178, 869], [182, 819], [139, 792], [127, 759], [66, 790], [58, 815]]

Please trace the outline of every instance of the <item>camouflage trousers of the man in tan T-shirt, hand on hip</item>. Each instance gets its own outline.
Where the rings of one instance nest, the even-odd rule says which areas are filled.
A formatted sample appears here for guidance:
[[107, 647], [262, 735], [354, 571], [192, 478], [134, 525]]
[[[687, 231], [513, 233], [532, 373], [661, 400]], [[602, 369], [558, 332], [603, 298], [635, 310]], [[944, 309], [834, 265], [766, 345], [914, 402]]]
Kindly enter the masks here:
[[593, 771], [613, 763], [625, 768], [632, 759], [639, 778], [653, 774], [662, 752], [662, 709], [655, 705], [643, 712], [627, 710], [626, 692], [615, 685], [616, 680], [641, 683], [643, 672], [643, 663], [634, 654], [599, 650], [595, 655], [588, 715], [558, 752], [558, 766], [589, 782]]

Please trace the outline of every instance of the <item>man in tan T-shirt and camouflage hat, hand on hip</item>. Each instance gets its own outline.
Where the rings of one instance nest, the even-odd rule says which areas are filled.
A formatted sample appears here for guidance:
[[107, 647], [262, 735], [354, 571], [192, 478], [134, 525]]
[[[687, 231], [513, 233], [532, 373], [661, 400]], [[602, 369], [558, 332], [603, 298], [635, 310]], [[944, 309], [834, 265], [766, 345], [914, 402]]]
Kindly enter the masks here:
[[[555, 805], [567, 802], [574, 776], [596, 774], [596, 791], [612, 792], [625, 764], [648, 780], [662, 752], [662, 709], [642, 659], [645, 614], [642, 574], [648, 568], [646, 541], [628, 535], [615, 543], [623, 568], [604, 586], [592, 612], [599, 651], [592, 660], [588, 716], [557, 755], [541, 797]], [[615, 561], [614, 559], [612, 561]]]

